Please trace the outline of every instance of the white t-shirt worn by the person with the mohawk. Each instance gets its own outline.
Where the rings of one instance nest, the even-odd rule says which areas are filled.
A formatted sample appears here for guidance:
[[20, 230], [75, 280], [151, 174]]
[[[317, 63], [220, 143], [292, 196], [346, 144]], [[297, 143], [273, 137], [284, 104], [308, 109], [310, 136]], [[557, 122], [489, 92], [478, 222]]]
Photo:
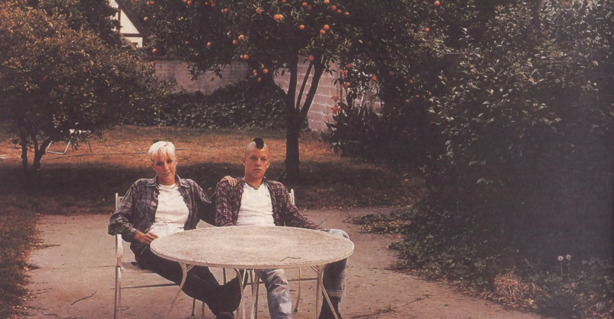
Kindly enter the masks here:
[[271, 194], [264, 184], [260, 185], [257, 190], [254, 190], [252, 186], [245, 183], [236, 225], [275, 226]]

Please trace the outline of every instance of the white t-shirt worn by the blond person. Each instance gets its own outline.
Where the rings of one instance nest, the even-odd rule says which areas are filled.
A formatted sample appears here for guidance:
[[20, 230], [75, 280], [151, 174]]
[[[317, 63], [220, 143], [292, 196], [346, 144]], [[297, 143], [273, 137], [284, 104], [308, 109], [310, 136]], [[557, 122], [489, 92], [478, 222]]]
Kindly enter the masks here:
[[190, 211], [179, 193], [179, 185], [158, 185], [158, 208], [149, 232], [158, 237], [184, 231]]

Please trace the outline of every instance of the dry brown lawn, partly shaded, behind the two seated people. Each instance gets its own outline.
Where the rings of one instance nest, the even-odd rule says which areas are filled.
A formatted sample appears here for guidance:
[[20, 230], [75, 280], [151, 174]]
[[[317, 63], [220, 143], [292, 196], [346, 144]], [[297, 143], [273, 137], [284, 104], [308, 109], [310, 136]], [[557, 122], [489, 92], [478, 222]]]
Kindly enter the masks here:
[[[0, 141], [0, 192], [39, 201], [41, 213], [110, 213], [114, 193], [125, 193], [131, 183], [155, 173], [144, 152], [155, 140], [171, 140], [177, 148], [177, 174], [198, 182], [212, 194], [224, 175], [243, 175], [243, 148], [254, 137], [270, 145], [273, 164], [267, 172], [278, 179], [286, 152], [285, 131], [117, 126], [66, 155], [47, 154], [34, 189], [24, 189], [20, 148]], [[63, 142], [51, 150], [63, 151]], [[316, 133], [300, 140], [301, 180], [287, 185], [297, 191], [301, 208], [397, 207], [413, 204], [424, 195], [422, 180], [413, 171], [362, 163], [335, 154]], [[32, 154], [30, 154], [30, 158]]]

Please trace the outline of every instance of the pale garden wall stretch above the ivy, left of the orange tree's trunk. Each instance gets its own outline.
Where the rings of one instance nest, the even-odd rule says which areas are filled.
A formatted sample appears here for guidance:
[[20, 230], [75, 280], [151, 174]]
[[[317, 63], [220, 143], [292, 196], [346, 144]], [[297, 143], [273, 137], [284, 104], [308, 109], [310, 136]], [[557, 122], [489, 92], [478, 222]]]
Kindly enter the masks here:
[[222, 69], [222, 79], [214, 77], [211, 81], [212, 72], [201, 74], [198, 79], [192, 81], [192, 75], [185, 68], [185, 61], [171, 58], [156, 59], [155, 72], [160, 80], [177, 80], [176, 90], [201, 91], [203, 94], [211, 94], [219, 88], [240, 82], [247, 74], [247, 64], [233, 62]]

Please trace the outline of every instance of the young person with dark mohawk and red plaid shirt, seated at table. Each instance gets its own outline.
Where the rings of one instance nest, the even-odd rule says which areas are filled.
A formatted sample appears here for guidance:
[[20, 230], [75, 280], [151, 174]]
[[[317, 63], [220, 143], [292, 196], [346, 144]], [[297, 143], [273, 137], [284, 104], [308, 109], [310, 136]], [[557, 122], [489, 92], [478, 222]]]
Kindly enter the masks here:
[[[220, 182], [216, 194], [217, 226], [292, 226], [298, 228], [320, 229], [313, 221], [303, 217], [296, 206], [290, 202], [290, 195], [282, 183], [266, 179], [266, 169], [270, 166], [270, 152], [265, 142], [256, 138], [247, 144], [243, 157], [245, 175], [236, 180]], [[340, 229], [321, 229], [337, 236], [349, 238]], [[318, 319], [337, 317], [339, 302], [345, 293], [345, 272], [348, 259], [328, 264], [324, 270], [324, 288], [333, 304], [322, 303]], [[271, 319], [292, 318], [292, 301], [284, 269], [261, 269], [260, 278], [266, 286]]]

